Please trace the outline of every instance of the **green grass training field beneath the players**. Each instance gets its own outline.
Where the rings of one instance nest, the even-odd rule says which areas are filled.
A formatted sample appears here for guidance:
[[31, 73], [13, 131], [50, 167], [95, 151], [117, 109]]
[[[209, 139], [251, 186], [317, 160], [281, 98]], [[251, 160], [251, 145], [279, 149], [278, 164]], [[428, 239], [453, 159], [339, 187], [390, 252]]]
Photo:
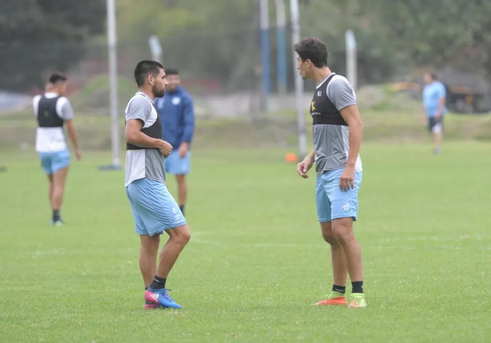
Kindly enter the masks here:
[[312, 306], [332, 282], [314, 173], [302, 180], [283, 151], [196, 150], [193, 237], [168, 281], [181, 311], [143, 310], [124, 173], [97, 170], [108, 154], [72, 163], [67, 225], [53, 228], [36, 156], [1, 152], [0, 341], [489, 341], [490, 152], [363, 145], [369, 307], [351, 310]]

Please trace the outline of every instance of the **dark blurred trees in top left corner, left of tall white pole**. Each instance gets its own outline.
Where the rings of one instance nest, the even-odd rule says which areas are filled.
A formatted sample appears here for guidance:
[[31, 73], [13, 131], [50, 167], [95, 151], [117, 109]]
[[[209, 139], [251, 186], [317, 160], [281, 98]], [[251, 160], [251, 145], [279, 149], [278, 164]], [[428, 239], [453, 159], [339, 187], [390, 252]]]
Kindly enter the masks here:
[[105, 16], [103, 0], [2, 0], [0, 89], [28, 91], [42, 87], [46, 73], [66, 71]]

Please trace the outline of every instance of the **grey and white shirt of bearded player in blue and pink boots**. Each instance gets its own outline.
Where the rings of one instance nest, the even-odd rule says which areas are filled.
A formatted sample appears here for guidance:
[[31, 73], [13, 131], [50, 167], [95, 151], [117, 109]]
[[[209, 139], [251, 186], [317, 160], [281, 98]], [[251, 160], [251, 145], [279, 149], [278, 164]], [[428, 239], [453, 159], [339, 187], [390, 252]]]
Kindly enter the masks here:
[[[153, 102], [145, 94], [138, 92], [128, 102], [125, 110], [126, 121], [140, 119], [143, 128], [148, 128], [160, 122]], [[159, 132], [161, 136], [161, 131]], [[154, 137], [155, 138], [155, 137]], [[163, 156], [158, 149], [137, 149], [126, 151], [125, 187], [138, 179], [152, 179], [166, 183], [166, 171], [163, 166]]]

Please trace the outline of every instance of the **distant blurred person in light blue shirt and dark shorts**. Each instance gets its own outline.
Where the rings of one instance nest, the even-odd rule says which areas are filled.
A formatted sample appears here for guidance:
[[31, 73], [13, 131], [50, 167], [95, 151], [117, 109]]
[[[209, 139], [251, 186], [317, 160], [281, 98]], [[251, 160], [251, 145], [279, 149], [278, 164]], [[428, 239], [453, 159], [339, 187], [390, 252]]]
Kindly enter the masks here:
[[433, 134], [433, 152], [441, 152], [443, 138], [443, 116], [446, 113], [446, 91], [443, 83], [438, 81], [436, 73], [427, 71], [424, 74], [423, 106], [428, 122], [428, 130]]

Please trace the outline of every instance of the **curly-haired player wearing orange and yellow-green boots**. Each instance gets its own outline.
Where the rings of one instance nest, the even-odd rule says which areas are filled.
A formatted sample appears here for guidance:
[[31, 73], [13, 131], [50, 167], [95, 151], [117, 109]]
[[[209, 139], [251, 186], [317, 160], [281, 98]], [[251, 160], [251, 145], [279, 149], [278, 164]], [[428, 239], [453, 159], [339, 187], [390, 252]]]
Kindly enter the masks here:
[[[353, 88], [348, 80], [328, 68], [328, 49], [317, 38], [304, 38], [294, 46], [297, 68], [304, 79], [313, 79], [316, 90], [310, 105], [313, 121], [312, 151], [297, 165], [306, 179], [315, 162], [315, 197], [322, 237], [331, 245], [333, 289], [316, 305], [366, 307], [363, 269], [353, 222], [358, 215], [361, 160], [358, 154], [363, 126]], [[346, 278], [351, 296], [346, 301]]]

